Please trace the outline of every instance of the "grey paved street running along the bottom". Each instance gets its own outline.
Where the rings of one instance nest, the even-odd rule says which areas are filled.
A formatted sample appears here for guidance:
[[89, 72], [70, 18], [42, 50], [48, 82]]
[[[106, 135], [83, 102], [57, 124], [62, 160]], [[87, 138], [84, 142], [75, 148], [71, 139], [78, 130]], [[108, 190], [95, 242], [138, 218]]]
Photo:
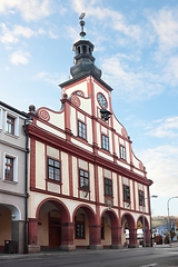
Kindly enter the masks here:
[[178, 247], [0, 255], [1, 267], [176, 267]]

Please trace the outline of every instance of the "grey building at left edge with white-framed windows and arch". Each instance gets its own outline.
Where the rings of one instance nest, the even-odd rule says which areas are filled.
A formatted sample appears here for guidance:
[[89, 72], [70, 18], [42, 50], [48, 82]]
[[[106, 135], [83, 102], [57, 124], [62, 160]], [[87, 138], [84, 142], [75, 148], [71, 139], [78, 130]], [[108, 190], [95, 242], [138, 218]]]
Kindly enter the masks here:
[[27, 244], [29, 116], [0, 101], [0, 250], [24, 253]]

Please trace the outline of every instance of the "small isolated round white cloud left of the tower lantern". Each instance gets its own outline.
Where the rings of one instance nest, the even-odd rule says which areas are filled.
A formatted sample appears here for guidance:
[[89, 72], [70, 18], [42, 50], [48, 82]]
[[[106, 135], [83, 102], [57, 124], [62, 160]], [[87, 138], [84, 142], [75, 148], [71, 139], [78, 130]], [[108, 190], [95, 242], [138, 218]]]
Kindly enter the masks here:
[[28, 65], [29, 58], [30, 58], [30, 53], [22, 50], [18, 50], [10, 55], [10, 61], [12, 65], [16, 65], [16, 66]]

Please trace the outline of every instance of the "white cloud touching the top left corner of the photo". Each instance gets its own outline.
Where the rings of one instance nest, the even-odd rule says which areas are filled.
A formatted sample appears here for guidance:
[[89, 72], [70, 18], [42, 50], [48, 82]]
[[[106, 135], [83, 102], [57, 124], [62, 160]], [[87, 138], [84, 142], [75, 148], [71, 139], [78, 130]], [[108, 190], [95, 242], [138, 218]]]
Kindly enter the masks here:
[[53, 12], [51, 0], [1, 0], [0, 13], [20, 11], [26, 21], [39, 20]]

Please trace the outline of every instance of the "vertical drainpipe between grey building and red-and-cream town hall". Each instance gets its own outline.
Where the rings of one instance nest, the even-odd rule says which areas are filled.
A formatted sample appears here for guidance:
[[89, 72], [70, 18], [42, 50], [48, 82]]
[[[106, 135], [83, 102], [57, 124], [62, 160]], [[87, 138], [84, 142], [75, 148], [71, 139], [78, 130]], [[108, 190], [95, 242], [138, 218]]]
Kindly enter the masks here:
[[28, 192], [28, 164], [29, 164], [29, 135], [27, 131], [27, 126], [32, 122], [32, 118], [29, 117], [24, 119], [24, 125], [23, 125], [23, 131], [26, 135], [26, 156], [24, 156], [24, 245], [23, 245], [23, 250], [24, 254], [28, 254], [28, 198], [29, 198], [29, 192]]

